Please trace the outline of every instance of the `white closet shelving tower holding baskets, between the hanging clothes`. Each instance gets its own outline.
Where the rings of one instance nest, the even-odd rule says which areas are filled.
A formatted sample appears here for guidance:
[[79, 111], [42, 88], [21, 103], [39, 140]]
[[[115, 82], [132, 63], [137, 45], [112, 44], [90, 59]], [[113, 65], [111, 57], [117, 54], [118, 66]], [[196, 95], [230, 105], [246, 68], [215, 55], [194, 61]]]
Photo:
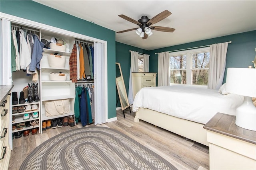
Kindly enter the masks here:
[[[74, 98], [75, 98], [75, 83], [72, 83], [70, 80], [70, 70], [69, 70], [69, 58], [71, 55], [74, 37], [68, 37], [66, 35], [60, 35], [56, 33], [51, 33], [48, 31], [41, 30], [41, 39], [46, 39], [48, 42], [51, 41], [52, 37], [56, 39], [62, 39], [66, 43], [66, 51], [53, 50], [44, 48], [43, 57], [40, 61], [40, 92], [41, 92], [41, 125], [43, 121], [47, 121], [49, 119], [58, 119], [60, 117], [66, 117], [70, 115], [74, 115]], [[51, 67], [48, 62], [48, 56], [50, 54], [62, 55], [66, 57], [65, 66], [62, 68]], [[50, 72], [59, 73], [62, 72], [66, 74], [66, 80], [50, 80], [49, 74]], [[61, 115], [55, 116], [46, 116], [45, 101], [50, 100], [62, 100], [69, 99], [70, 101], [70, 111], [68, 113], [64, 113]], [[42, 128], [40, 128], [40, 132], [42, 133]]]

